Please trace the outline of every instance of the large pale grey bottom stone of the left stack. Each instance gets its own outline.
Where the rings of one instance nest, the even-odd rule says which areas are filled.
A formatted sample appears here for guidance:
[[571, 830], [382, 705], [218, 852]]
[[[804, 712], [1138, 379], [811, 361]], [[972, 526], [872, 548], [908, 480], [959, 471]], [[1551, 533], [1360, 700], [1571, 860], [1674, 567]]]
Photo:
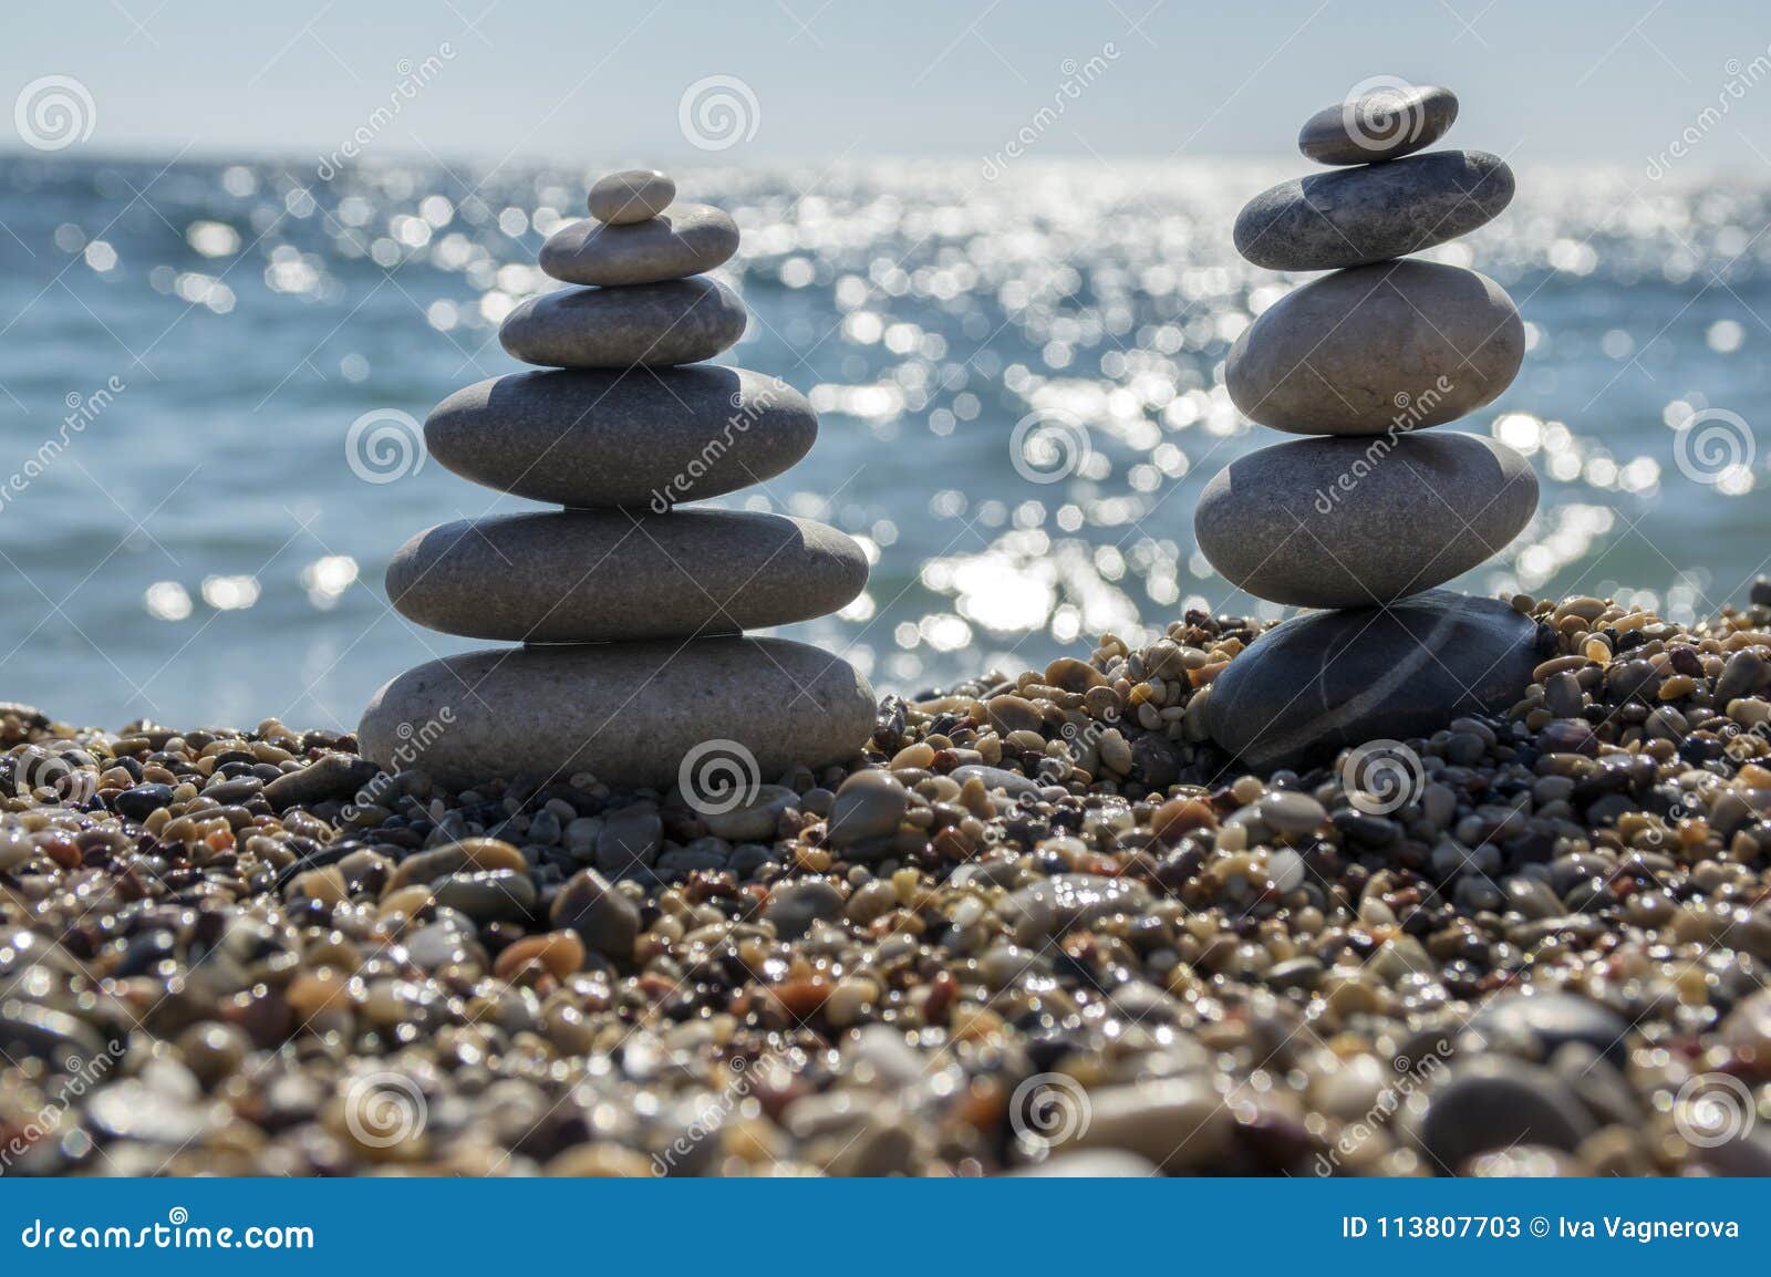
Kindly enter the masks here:
[[666, 790], [682, 760], [735, 742], [769, 781], [859, 753], [873, 689], [847, 661], [788, 639], [708, 638], [489, 648], [407, 669], [363, 712], [363, 755], [464, 790], [592, 772]]

